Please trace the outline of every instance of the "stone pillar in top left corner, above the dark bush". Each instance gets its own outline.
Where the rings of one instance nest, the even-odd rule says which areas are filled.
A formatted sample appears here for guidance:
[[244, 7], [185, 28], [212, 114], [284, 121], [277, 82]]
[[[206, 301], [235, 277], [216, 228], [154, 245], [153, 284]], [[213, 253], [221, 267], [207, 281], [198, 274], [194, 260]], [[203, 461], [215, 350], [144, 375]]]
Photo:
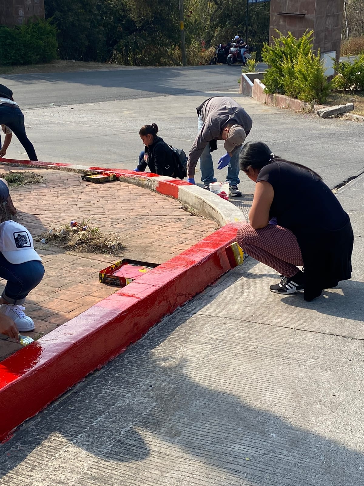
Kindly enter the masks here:
[[44, 18], [44, 0], [0, 0], [0, 25], [21, 25], [34, 16]]

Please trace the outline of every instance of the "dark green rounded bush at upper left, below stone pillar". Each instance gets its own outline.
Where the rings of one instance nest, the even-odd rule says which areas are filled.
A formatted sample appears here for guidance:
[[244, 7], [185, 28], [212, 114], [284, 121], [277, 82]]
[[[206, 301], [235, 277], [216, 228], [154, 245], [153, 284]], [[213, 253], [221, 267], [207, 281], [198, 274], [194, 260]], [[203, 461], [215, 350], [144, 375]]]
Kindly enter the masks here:
[[1, 65], [50, 62], [57, 57], [56, 28], [43, 19], [14, 28], [1, 25], [0, 45]]

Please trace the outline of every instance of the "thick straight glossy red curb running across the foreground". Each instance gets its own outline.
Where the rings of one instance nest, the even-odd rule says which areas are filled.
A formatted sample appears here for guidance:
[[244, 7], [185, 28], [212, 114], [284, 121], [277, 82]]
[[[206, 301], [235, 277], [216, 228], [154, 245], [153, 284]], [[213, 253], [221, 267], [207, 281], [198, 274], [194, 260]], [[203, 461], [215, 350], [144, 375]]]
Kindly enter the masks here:
[[230, 270], [226, 248], [238, 226], [220, 228], [1, 362], [0, 440]]

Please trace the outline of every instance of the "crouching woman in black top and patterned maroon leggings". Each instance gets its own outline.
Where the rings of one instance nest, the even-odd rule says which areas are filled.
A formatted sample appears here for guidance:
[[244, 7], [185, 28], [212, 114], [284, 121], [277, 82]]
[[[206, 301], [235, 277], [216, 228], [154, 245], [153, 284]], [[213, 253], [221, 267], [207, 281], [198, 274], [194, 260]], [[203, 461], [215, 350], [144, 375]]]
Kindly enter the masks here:
[[[270, 290], [282, 295], [304, 290], [310, 301], [351, 278], [350, 219], [321, 177], [275, 156], [263, 142], [244, 145], [239, 163], [256, 185], [250, 224], [239, 228], [236, 240], [283, 276]], [[269, 224], [272, 218], [276, 224]]]

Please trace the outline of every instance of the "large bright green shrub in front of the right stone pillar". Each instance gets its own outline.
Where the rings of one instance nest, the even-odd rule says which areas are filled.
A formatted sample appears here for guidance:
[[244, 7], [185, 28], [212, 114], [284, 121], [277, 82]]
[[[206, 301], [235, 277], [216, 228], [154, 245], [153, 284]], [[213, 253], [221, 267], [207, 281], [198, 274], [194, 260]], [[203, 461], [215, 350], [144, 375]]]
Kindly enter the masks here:
[[280, 93], [309, 103], [323, 103], [330, 84], [324, 75], [320, 52], [313, 52], [313, 31], [296, 39], [290, 32], [264, 45], [263, 61], [268, 64], [263, 83], [267, 93]]

